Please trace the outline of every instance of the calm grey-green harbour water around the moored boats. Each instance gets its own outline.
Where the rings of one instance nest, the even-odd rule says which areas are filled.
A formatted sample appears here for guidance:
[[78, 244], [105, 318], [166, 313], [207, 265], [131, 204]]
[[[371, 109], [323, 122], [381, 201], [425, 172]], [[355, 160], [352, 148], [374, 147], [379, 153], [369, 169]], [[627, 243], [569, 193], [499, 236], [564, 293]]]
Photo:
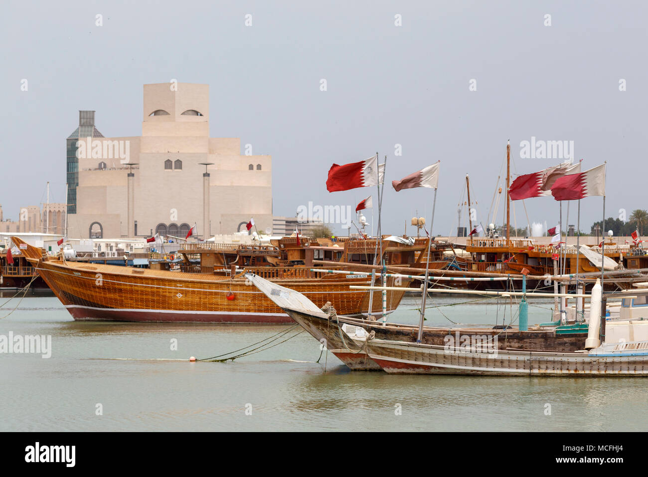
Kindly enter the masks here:
[[[432, 306], [467, 301], [443, 297]], [[0, 316], [16, 304], [5, 304]], [[548, 300], [531, 304], [529, 323], [549, 321]], [[501, 324], [502, 313], [494, 302], [463, 303], [433, 308], [427, 323]], [[508, 308], [506, 313], [508, 322]], [[416, 323], [415, 299], [406, 298], [390, 319]], [[0, 354], [0, 430], [648, 429], [643, 378], [350, 372], [332, 354], [316, 363], [319, 343], [305, 332], [233, 363], [187, 360], [235, 350], [286, 328], [75, 322], [56, 298], [26, 297], [0, 319], [0, 335], [49, 335], [52, 356]]]

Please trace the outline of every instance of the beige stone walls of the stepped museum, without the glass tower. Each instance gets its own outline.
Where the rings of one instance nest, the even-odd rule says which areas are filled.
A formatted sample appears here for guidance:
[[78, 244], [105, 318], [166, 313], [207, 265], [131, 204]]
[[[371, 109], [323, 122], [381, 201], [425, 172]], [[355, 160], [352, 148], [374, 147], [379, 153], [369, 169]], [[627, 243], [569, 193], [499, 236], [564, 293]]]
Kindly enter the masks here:
[[[209, 138], [209, 87], [179, 83], [176, 93], [168, 83], [146, 84], [144, 92], [142, 136], [101, 140], [129, 140], [130, 162], [139, 164], [133, 168], [137, 234], [148, 236], [160, 223], [196, 223], [198, 236], [203, 237], [231, 234], [250, 217], [259, 231], [272, 227], [272, 157], [242, 155], [238, 138]], [[168, 115], [149, 116], [155, 110]], [[186, 110], [203, 116], [183, 115]], [[97, 169], [101, 160], [109, 170]], [[167, 160], [173, 169], [165, 169]], [[176, 160], [182, 162], [180, 170], [175, 168]], [[203, 223], [205, 166], [200, 163], [213, 163], [207, 169], [209, 223]], [[71, 238], [87, 238], [94, 221], [104, 226], [104, 238], [128, 234], [128, 167], [119, 161], [116, 169], [110, 166], [104, 158], [79, 160], [78, 214], [69, 216], [69, 225], [75, 222], [78, 235], [70, 229]]]

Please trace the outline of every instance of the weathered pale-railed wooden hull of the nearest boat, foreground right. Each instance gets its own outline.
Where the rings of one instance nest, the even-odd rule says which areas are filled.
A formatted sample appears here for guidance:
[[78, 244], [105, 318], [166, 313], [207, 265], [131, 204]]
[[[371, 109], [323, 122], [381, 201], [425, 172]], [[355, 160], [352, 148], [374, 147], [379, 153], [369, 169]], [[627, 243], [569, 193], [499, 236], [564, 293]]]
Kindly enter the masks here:
[[370, 339], [372, 360], [390, 374], [481, 376], [648, 376], [648, 356], [589, 356], [522, 350], [461, 352], [441, 346]]

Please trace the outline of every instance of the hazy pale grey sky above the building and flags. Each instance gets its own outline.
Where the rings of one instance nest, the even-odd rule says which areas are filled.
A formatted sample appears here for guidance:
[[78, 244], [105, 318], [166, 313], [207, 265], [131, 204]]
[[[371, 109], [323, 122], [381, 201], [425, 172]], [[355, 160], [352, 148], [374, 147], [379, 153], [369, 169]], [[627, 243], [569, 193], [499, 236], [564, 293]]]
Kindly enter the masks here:
[[[514, 177], [561, 162], [520, 158], [520, 141], [532, 136], [573, 141], [583, 169], [607, 160], [606, 215], [648, 208], [644, 1], [20, 1], [1, 9], [5, 217], [44, 201], [47, 180], [52, 201], [65, 201], [65, 138], [78, 110], [96, 110], [104, 136], [139, 136], [143, 84], [171, 79], [209, 84], [211, 137], [239, 137], [272, 155], [275, 215], [375, 195], [328, 193], [325, 181], [332, 163], [377, 151], [381, 162], [388, 156], [389, 182], [441, 160], [435, 234], [456, 233], [467, 173], [486, 225], [509, 138]], [[431, 208], [432, 191], [389, 186], [384, 232], [402, 234], [416, 210], [429, 221]], [[551, 197], [526, 208], [531, 222], [557, 222]], [[526, 226], [522, 202], [515, 209]], [[575, 203], [571, 210], [575, 223]], [[600, 217], [601, 198], [583, 199], [581, 228]]]

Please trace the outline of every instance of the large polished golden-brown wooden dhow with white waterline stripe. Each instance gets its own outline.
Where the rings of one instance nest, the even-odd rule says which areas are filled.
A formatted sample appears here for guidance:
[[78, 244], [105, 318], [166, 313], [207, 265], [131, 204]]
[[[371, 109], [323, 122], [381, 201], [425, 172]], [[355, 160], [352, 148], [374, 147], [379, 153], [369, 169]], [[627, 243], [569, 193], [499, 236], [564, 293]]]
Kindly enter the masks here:
[[[246, 268], [231, 275], [209, 275], [69, 262], [63, 256], [47, 256], [19, 238], [12, 237], [12, 241], [76, 320], [292, 323], [287, 313], [245, 278]], [[411, 241], [389, 242], [383, 247], [384, 260], [407, 266], [414, 260], [414, 252], [425, 246]], [[354, 247], [360, 245], [345, 243], [345, 251]], [[364, 248], [373, 254], [373, 246]], [[304, 266], [250, 269], [303, 293], [319, 306], [330, 301], [345, 315], [367, 313], [371, 293], [376, 295], [371, 312], [379, 313], [383, 307], [380, 292], [349, 289], [351, 285], [368, 284], [369, 274], [324, 275]], [[389, 280], [386, 284], [399, 288], [386, 295], [389, 313], [399, 305], [409, 281], [397, 284]]]

